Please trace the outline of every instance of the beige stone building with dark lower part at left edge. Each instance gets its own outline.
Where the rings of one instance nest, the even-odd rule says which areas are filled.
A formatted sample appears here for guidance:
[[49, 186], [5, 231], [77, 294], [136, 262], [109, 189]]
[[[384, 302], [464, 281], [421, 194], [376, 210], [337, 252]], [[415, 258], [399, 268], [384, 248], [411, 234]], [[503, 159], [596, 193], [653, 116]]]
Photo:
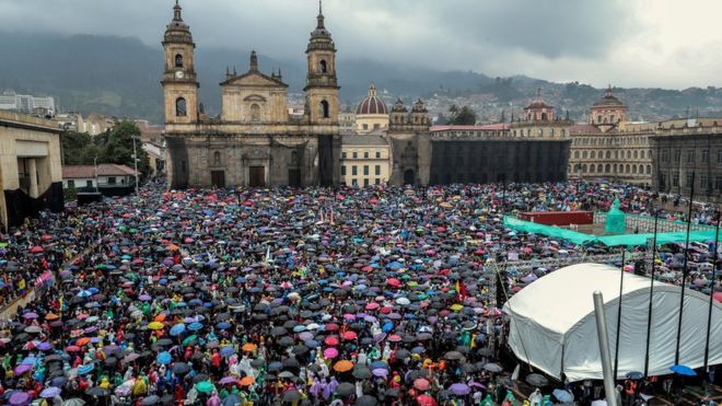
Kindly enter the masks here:
[[0, 111], [0, 230], [62, 211], [60, 161], [57, 123]]

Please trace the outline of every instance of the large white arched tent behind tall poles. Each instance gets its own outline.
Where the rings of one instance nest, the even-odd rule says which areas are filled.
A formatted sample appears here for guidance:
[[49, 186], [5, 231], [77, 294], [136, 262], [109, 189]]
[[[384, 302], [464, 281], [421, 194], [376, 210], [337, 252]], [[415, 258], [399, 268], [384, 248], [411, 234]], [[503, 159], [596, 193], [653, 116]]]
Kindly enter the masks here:
[[[511, 317], [509, 344], [516, 357], [550, 376], [570, 382], [603, 379], [593, 293], [604, 294], [612, 362], [616, 348], [618, 268], [580, 264], [536, 280], [504, 305]], [[680, 287], [654, 282], [650, 375], [667, 374], [675, 363]], [[644, 370], [650, 279], [625, 272], [617, 378]], [[709, 295], [685, 290], [679, 362], [703, 366]], [[712, 309], [709, 364], [722, 363], [722, 304]]]

